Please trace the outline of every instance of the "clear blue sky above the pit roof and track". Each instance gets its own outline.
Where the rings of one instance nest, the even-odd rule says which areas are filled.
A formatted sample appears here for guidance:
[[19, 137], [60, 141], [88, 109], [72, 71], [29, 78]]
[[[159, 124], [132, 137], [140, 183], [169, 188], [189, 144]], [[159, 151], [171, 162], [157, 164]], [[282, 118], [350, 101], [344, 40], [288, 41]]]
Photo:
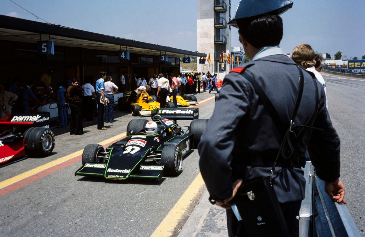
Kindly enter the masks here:
[[[12, 1], [52, 24], [184, 50], [197, 49], [196, 0]], [[1, 15], [44, 22], [12, 1], [1, 0]], [[296, 45], [307, 43], [315, 51], [331, 56], [337, 51], [347, 58], [361, 59], [365, 55], [364, 0], [292, 1], [293, 8], [281, 15], [284, 36], [280, 46], [285, 52], [291, 53]], [[238, 2], [232, 0], [233, 15]], [[232, 28], [232, 47], [238, 46], [237, 30]]]

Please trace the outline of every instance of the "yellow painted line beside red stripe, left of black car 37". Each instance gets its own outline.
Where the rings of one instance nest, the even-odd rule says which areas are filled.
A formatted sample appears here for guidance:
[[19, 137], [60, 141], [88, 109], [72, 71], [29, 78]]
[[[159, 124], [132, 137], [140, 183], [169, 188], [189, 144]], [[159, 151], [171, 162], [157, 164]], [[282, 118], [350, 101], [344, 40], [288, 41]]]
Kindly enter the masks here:
[[[100, 145], [106, 145], [106, 144], [111, 143], [112, 141], [118, 140], [121, 137], [126, 136], [126, 135], [127, 135], [127, 133], [124, 132], [124, 133], [119, 134], [117, 136], [114, 136], [114, 137], [112, 137], [110, 139], [107, 139], [105, 141], [102, 141], [99, 144]], [[76, 156], [82, 155], [82, 152], [83, 151], [84, 151], [84, 149], [82, 149], [80, 151], [77, 151], [77, 152], [74, 152], [74, 153], [72, 153], [70, 155], [64, 156], [62, 158], [59, 158], [57, 160], [51, 161], [51, 162], [49, 162], [47, 164], [43, 164], [42, 166], [39, 166], [37, 168], [34, 168], [34, 169], [30, 170], [30, 171], [24, 172], [23, 174], [16, 175], [16, 176], [14, 176], [14, 177], [12, 177], [10, 179], [4, 180], [3, 182], [0, 182], [0, 189], [3, 189], [4, 187], [7, 187], [7, 186], [9, 186], [9, 185], [11, 185], [13, 183], [19, 182], [20, 180], [23, 180], [25, 178], [28, 178], [28, 177], [30, 177], [32, 175], [38, 174], [39, 172], [42, 172], [44, 170], [47, 170], [47, 169], [49, 169], [51, 167], [57, 166], [58, 164], [61, 164], [61, 163], [65, 162], [65, 161], [68, 161], [68, 160], [70, 160], [72, 158], [75, 158]]]

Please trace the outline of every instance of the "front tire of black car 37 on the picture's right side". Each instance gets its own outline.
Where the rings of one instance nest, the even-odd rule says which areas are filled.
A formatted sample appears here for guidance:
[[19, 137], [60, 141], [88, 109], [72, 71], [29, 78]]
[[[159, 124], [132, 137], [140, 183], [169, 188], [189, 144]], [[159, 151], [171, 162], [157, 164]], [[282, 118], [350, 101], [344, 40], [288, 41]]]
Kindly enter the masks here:
[[177, 145], [167, 145], [162, 149], [161, 164], [165, 166], [164, 173], [168, 176], [177, 176], [183, 169], [183, 158]]

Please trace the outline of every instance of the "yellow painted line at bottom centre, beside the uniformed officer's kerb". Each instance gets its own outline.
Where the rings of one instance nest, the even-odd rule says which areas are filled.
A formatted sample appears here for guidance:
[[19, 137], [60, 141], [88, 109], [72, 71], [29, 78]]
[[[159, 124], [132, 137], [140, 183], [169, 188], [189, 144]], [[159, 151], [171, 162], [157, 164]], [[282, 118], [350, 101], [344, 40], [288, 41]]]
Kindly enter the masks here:
[[197, 195], [199, 189], [204, 185], [203, 178], [199, 173], [194, 181], [190, 184], [183, 196], [177, 201], [175, 206], [170, 210], [169, 214], [157, 227], [151, 237], [169, 237], [174, 232], [178, 222], [183, 217], [185, 211], [187, 211], [190, 202]]

